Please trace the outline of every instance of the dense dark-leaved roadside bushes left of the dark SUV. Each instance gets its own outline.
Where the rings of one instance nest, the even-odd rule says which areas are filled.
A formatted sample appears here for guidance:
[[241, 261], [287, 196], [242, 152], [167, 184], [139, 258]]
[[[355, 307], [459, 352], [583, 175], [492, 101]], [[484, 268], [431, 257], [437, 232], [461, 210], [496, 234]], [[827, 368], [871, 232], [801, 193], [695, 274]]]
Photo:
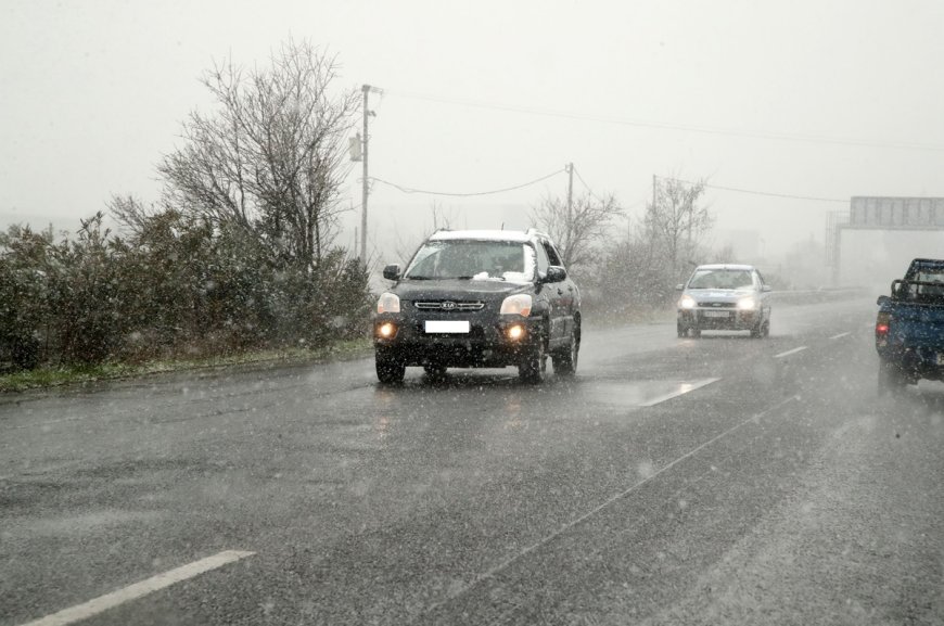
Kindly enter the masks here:
[[208, 356], [360, 336], [367, 270], [341, 248], [315, 268], [239, 228], [174, 210], [122, 239], [97, 214], [74, 237], [0, 234], [0, 369]]

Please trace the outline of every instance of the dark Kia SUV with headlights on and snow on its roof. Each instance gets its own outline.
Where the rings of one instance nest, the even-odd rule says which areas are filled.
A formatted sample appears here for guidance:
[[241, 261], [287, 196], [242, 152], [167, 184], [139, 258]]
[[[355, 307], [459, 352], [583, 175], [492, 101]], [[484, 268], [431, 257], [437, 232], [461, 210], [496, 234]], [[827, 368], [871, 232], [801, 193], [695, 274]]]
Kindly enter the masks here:
[[438, 231], [381, 294], [373, 322], [377, 376], [403, 381], [408, 366], [516, 366], [540, 382], [547, 357], [571, 375], [581, 349], [581, 292], [546, 234], [528, 230]]

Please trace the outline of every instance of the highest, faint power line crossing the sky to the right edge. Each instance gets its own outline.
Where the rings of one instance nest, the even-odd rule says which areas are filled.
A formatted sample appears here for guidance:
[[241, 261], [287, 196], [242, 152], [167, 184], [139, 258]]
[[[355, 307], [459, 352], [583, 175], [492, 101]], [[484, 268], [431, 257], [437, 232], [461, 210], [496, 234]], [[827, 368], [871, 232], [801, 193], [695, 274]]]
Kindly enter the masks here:
[[425, 100], [429, 102], [438, 102], [443, 104], [459, 104], [462, 106], [472, 106], [476, 108], [492, 108], [496, 111], [508, 111], [513, 113], [526, 113], [531, 115], [543, 115], [547, 117], [562, 117], [566, 119], [581, 119], [585, 122], [598, 122], [601, 124], [614, 124], [620, 126], [635, 126], [639, 128], [656, 128], [662, 130], [684, 130], [689, 132], [701, 132], [705, 135], [722, 135], [728, 137], [745, 137], [751, 139], [775, 139], [779, 141], [794, 141], [808, 143], [827, 143], [833, 145], [853, 145], [862, 148], [893, 148], [900, 150], [923, 150], [932, 152], [944, 152], [944, 145], [933, 143], [917, 143], [910, 141], [876, 141], [866, 139], [842, 138], [842, 137], [826, 137], [816, 135], [790, 135], [786, 132], [749, 132], [745, 130], [735, 130], [730, 128], [711, 128], [706, 126], [692, 126], [687, 124], [668, 124], [661, 122], [648, 122], [639, 119], [626, 119], [621, 117], [608, 117], [601, 115], [592, 115], [587, 113], [572, 113], [566, 111], [554, 111], [550, 108], [538, 108], [531, 106], [515, 106], [510, 104], [499, 104], [492, 102], [482, 102], [475, 100], [464, 100], [460, 98], [443, 98], [438, 95], [428, 95], [420, 93], [409, 93], [405, 91], [385, 90], [385, 93], [399, 95], [401, 98], [410, 98], [413, 100]]

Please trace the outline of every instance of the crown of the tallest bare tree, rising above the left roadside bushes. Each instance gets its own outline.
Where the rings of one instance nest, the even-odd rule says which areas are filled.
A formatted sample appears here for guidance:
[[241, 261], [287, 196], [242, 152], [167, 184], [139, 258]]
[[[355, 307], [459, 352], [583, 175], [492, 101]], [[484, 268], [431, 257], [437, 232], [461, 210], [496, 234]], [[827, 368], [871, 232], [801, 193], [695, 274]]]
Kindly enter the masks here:
[[333, 94], [337, 64], [308, 42], [289, 41], [268, 68], [217, 64], [203, 84], [218, 104], [193, 112], [182, 148], [158, 171], [167, 201], [214, 225], [237, 225], [273, 259], [311, 268], [336, 235], [356, 90]]

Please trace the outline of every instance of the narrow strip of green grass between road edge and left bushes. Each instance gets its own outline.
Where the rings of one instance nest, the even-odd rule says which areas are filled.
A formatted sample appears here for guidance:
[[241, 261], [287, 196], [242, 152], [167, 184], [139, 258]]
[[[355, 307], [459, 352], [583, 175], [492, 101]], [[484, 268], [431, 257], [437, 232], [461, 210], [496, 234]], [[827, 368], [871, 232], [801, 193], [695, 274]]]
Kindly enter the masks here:
[[93, 381], [127, 379], [163, 372], [179, 372], [209, 368], [240, 366], [275, 367], [282, 365], [315, 363], [358, 358], [370, 354], [371, 340], [360, 338], [335, 342], [317, 348], [286, 348], [257, 350], [205, 358], [175, 358], [139, 365], [103, 363], [99, 366], [71, 366], [38, 368], [28, 372], [0, 375], [0, 393], [89, 383]]

